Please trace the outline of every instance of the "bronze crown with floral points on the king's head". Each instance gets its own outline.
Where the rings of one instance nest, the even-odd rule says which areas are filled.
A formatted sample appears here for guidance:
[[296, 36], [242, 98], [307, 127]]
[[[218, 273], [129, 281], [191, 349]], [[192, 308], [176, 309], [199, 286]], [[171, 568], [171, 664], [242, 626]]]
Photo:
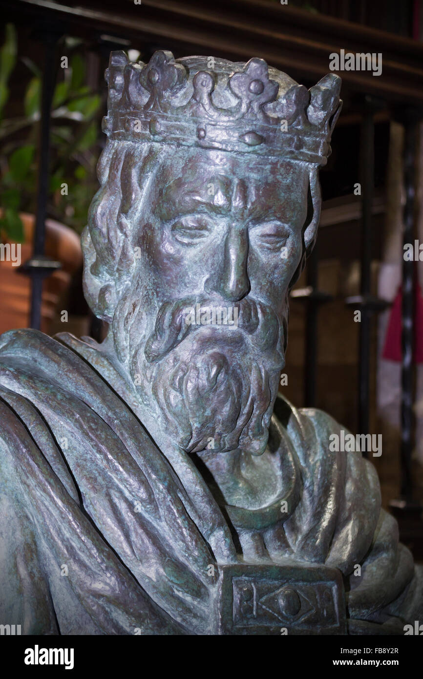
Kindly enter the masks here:
[[279, 156], [325, 165], [342, 107], [334, 73], [307, 90], [263, 59], [206, 56], [148, 64], [111, 52], [103, 131], [109, 139]]

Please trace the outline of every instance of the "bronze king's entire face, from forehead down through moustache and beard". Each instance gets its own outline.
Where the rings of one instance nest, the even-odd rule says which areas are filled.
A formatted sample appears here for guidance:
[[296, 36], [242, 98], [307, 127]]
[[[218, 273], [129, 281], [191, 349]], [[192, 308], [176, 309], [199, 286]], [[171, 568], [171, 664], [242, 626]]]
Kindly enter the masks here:
[[[132, 227], [141, 260], [114, 335], [128, 336], [141, 400], [186, 452], [212, 437], [215, 452], [261, 454], [284, 366], [287, 289], [304, 252], [309, 166], [182, 147], [164, 147], [155, 163]], [[200, 322], [195, 314], [186, 325], [198, 305]]]

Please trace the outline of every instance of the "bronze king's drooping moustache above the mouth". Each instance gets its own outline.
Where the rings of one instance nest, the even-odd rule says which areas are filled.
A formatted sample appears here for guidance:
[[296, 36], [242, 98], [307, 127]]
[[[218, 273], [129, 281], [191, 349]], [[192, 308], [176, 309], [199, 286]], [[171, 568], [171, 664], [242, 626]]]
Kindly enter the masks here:
[[[193, 331], [200, 331], [205, 325], [187, 323], [187, 309], [196, 309], [197, 305], [205, 309], [232, 310], [232, 318], [237, 318], [237, 329], [249, 335], [255, 344], [265, 350], [274, 347], [279, 337], [279, 320], [277, 314], [268, 306], [253, 297], [244, 297], [228, 306], [227, 302], [204, 296], [184, 297], [176, 301], [162, 304], [158, 312], [153, 333], [145, 344], [145, 357], [149, 363], [162, 359], [170, 350], [176, 348]], [[229, 326], [231, 324], [229, 323]], [[227, 327], [214, 325], [213, 327]], [[232, 327], [231, 332], [234, 329]]]

